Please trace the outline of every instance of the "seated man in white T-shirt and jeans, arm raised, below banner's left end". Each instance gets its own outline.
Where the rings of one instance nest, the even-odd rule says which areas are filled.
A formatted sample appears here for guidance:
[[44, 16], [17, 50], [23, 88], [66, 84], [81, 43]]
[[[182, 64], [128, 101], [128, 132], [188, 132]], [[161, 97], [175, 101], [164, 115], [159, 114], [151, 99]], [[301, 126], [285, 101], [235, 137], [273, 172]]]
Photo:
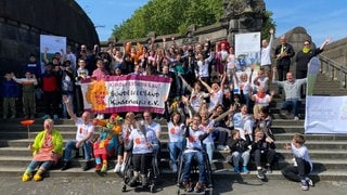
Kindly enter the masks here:
[[70, 106], [70, 100], [67, 95], [63, 95], [63, 102], [66, 105], [66, 110], [69, 117], [74, 120], [75, 126], [77, 127], [76, 139], [70, 140], [65, 145], [64, 153], [64, 165], [61, 170], [66, 170], [70, 167], [72, 164], [72, 151], [77, 151], [80, 147], [83, 147], [85, 151], [85, 159], [87, 160], [82, 170], [86, 171], [92, 167], [91, 160], [91, 139], [94, 132], [94, 126], [90, 120], [90, 113], [83, 112], [82, 116], [78, 118], [76, 114], [73, 112]]

